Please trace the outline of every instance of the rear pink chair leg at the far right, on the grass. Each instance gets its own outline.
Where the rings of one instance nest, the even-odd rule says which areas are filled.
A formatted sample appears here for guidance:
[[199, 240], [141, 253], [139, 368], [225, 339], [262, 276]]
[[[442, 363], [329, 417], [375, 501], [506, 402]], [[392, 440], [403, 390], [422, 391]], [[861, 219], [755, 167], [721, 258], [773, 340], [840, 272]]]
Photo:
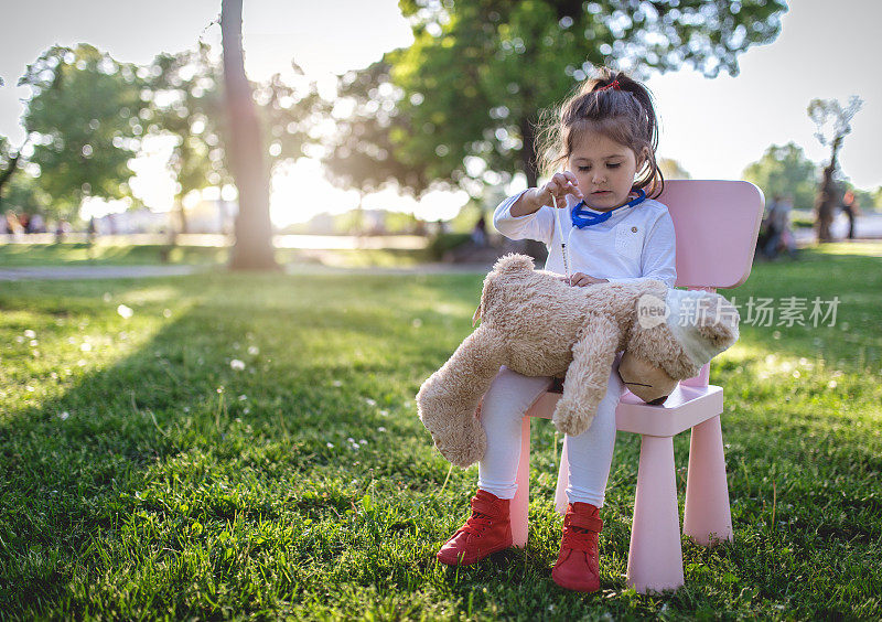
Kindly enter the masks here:
[[704, 546], [732, 540], [732, 514], [719, 415], [692, 428], [682, 532]]

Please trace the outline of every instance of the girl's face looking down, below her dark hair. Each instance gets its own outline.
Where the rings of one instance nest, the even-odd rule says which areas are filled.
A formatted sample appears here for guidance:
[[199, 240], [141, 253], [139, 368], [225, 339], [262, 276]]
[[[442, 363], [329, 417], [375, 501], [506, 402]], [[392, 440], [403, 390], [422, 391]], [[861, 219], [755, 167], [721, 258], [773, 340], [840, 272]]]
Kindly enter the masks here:
[[585, 204], [599, 212], [624, 205], [634, 185], [634, 175], [643, 167], [630, 147], [587, 129], [567, 159], [576, 175]]

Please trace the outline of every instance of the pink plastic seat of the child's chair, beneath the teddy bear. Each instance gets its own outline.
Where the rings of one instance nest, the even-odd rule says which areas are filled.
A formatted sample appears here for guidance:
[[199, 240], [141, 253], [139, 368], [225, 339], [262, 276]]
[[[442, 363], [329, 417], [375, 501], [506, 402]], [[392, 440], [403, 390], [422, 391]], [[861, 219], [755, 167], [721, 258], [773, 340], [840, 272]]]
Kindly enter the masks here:
[[[528, 417], [550, 419], [560, 394], [546, 393], [527, 411]], [[723, 411], [723, 389], [716, 385], [678, 385], [658, 406], [644, 403], [625, 390], [615, 410], [615, 427], [624, 432], [653, 437], [673, 437]]]

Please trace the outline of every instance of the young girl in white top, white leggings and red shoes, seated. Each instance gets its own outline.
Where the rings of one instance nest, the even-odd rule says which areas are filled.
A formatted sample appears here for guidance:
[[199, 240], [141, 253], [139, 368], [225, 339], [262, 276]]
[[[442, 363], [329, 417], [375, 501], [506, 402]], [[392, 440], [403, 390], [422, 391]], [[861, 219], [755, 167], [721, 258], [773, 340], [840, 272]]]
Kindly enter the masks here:
[[[546, 269], [562, 275], [568, 267], [572, 287], [649, 278], [673, 287], [674, 223], [667, 207], [650, 197], [660, 194], [664, 181], [655, 159], [656, 114], [646, 87], [622, 73], [601, 69], [539, 136], [545, 172], [555, 174], [544, 186], [503, 201], [494, 214], [496, 228], [513, 239], [544, 242], [549, 251]], [[571, 590], [600, 589], [599, 508], [623, 390], [617, 368], [619, 357], [591, 427], [563, 441], [570, 462], [569, 504], [551, 577]], [[521, 376], [506, 367], [499, 371], [481, 407], [487, 450], [478, 464], [472, 516], [438, 553], [440, 561], [474, 564], [512, 546], [508, 506], [517, 487], [520, 422], [551, 383], [552, 378]]]

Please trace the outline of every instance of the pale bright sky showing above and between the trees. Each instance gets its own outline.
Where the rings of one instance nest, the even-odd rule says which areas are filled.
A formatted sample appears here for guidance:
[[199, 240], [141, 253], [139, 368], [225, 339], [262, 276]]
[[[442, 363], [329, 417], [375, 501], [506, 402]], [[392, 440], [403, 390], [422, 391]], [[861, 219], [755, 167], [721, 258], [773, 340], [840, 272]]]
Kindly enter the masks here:
[[[795, 0], [778, 39], [740, 56], [738, 77], [704, 78], [689, 69], [652, 76], [660, 117], [658, 154], [674, 158], [696, 179], [739, 179], [771, 144], [789, 141], [820, 162], [828, 149], [814, 137], [806, 108], [813, 98], [846, 101], [858, 95], [863, 108], [846, 138], [840, 163], [861, 189], [882, 185], [875, 147], [882, 141], [882, 1]], [[129, 63], [149, 63], [160, 52], [193, 47], [200, 37], [219, 40], [213, 22], [219, 0], [31, 0], [3, 10], [0, 21], [0, 135], [23, 140], [19, 119], [28, 89], [18, 78], [53, 44], [86, 42]], [[255, 81], [290, 71], [291, 60], [320, 84], [361, 68], [384, 52], [412, 41], [395, 0], [245, 0], [246, 72]], [[168, 210], [173, 182], [164, 172], [168, 147], [148, 146], [152, 156], [133, 163], [132, 189], [149, 206]], [[509, 187], [523, 186], [516, 180]], [[432, 193], [417, 202], [386, 191], [367, 207], [391, 207], [435, 219], [455, 215], [464, 193]], [[301, 159], [273, 179], [271, 212], [277, 224], [304, 221], [319, 211], [344, 211], [356, 194], [333, 187], [318, 162]], [[90, 205], [100, 213], [118, 205]]]

